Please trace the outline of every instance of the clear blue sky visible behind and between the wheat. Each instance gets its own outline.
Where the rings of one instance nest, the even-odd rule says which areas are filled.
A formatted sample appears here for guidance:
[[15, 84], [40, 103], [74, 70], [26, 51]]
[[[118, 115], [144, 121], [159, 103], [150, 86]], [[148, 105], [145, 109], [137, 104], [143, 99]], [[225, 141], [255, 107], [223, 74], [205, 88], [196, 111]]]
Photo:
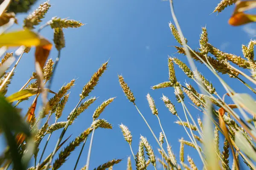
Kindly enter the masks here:
[[[43, 0], [39, 0], [33, 9], [43, 2]], [[68, 17], [69, 19], [87, 23], [87, 25], [81, 28], [64, 30], [66, 48], [61, 51], [61, 59], [53, 80], [52, 90], [58, 91], [61, 85], [73, 78], [77, 80], [76, 85], [71, 89], [69, 102], [59, 121], [66, 120], [67, 115], [79, 101], [79, 94], [84, 84], [90, 80], [91, 75], [97, 71], [103, 62], [110, 59], [108, 70], [100, 78], [99, 84], [90, 94], [90, 96], [99, 98], [68, 128], [64, 137], [66, 138], [72, 134], [69, 141], [73, 140], [89, 127], [92, 122], [92, 114], [98, 105], [105, 99], [116, 96], [115, 101], [100, 116], [101, 119], [106, 119], [113, 124], [113, 129], [96, 130], [89, 169], [93, 169], [113, 158], [124, 159], [113, 167], [114, 170], [126, 168], [127, 156], [130, 156], [131, 152], [118, 127], [121, 123], [127, 125], [131, 130], [134, 152], [137, 152], [140, 135], [143, 135], [152, 145], [156, 156], [160, 158], [157, 152], [158, 146], [153, 136], [119, 87], [118, 74], [122, 74], [125, 81], [131, 87], [140, 111], [158, 136], [160, 127], [157, 118], [148, 107], [146, 94], [150, 93], [155, 99], [166, 136], [172, 145], [177, 160], [179, 160], [180, 144], [178, 139], [184, 137], [184, 139], [189, 140], [189, 138], [183, 127], [174, 124], [177, 118], [169, 113], [160, 97], [162, 94], [168, 96], [175, 104], [180, 117], [185, 120], [182, 106], [175, 102], [173, 88], [154, 91], [150, 89], [152, 85], [168, 81], [168, 55], [178, 57], [187, 63], [186, 57], [175, 54], [175, 48], [170, 47], [178, 45], [178, 43], [173, 38], [168, 26], [169, 21], [172, 22], [169, 2], [161, 0], [76, 0], [74, 3], [50, 0], [49, 2], [52, 4], [52, 7], [42, 23], [47, 22], [54, 16]], [[207, 26], [210, 43], [223, 51], [242, 55], [241, 44], [246, 45], [256, 35], [255, 25], [248, 24], [240, 27], [228, 25], [227, 21], [232, 14], [234, 6], [227, 8], [216, 16], [216, 14], [211, 13], [218, 3], [219, 0], [174, 0], [175, 12], [183, 34], [188, 39], [188, 44], [196, 49], [199, 48], [198, 40], [201, 34], [201, 27]], [[25, 14], [18, 16], [19, 27], [22, 26], [24, 17], [26, 17]], [[53, 31], [51, 28], [45, 28], [41, 34], [52, 40]], [[34, 71], [33, 53], [34, 49], [29, 54], [23, 56], [17, 66], [17, 71], [8, 94], [19, 90], [31, 76], [32, 71]], [[49, 57], [55, 59], [56, 56], [57, 51], [53, 49]], [[223, 95], [224, 89], [220, 86], [217, 79], [210, 74], [206, 67], [198, 63], [196, 64], [199, 71], [205, 77], [212, 80], [218, 93]], [[178, 67], [175, 66], [175, 70], [178, 81], [183, 83], [186, 80], [195, 85]], [[248, 92], [244, 88], [239, 88], [241, 84], [237, 80], [229, 80], [227, 75], [222, 77], [227, 79], [230, 86], [237, 92]], [[31, 102], [30, 100], [20, 104], [20, 107], [24, 108], [24, 112], [26, 112]], [[190, 101], [187, 97], [185, 97], [185, 102], [191, 109], [194, 118], [198, 116], [202, 118], [202, 113], [189, 105], [188, 102]], [[54, 123], [54, 121], [53, 116], [50, 122]], [[53, 133], [45, 156], [53, 150], [60, 132], [61, 130]], [[86, 164], [89, 141], [85, 145], [77, 169]], [[41, 146], [44, 146], [44, 142], [45, 140]], [[164, 144], [164, 147], [166, 147], [166, 144]], [[74, 167], [80, 149], [81, 146], [76, 148], [61, 169], [72, 169]], [[185, 147], [185, 157], [187, 154], [192, 156], [198, 168], [202, 169], [198, 153], [189, 147]], [[56, 158], [57, 155], [55, 156]], [[135, 169], [134, 161], [132, 163]], [[152, 166], [148, 167], [148, 170], [151, 169], [153, 169]]]

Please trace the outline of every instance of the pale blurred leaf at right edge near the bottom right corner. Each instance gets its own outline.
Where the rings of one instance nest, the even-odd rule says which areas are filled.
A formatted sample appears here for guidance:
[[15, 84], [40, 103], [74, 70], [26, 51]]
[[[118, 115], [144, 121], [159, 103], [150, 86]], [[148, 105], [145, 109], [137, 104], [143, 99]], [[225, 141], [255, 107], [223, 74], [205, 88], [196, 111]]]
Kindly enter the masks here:
[[244, 138], [241, 131], [235, 132], [235, 143], [241, 151], [243, 151], [250, 159], [256, 161], [256, 151], [251, 144]]

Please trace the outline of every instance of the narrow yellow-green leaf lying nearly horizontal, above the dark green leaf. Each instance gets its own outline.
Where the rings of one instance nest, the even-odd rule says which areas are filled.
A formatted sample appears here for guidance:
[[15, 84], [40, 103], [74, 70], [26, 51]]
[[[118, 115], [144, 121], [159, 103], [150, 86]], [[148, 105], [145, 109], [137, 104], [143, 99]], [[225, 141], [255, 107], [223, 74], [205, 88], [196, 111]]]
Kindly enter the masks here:
[[[50, 93], [55, 94], [53, 91], [51, 91], [49, 89], [45, 89], [45, 90], [49, 91]], [[38, 91], [38, 88], [27, 88], [27, 89], [18, 91], [16, 93], [12, 94], [11, 96], [6, 97], [6, 100], [9, 102], [14, 102], [17, 100], [25, 99], [30, 96], [34, 96], [41, 92], [42, 92], [42, 90], [39, 89], [39, 91]]]

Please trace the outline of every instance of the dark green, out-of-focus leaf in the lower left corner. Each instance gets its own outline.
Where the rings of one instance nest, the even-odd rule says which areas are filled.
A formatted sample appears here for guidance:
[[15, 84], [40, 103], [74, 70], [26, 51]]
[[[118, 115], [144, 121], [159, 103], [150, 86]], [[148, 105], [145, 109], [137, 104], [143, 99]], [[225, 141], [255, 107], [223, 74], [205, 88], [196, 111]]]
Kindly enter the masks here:
[[18, 110], [15, 109], [4, 96], [0, 96], [0, 130], [3, 131], [7, 144], [10, 148], [14, 169], [24, 170], [20, 153], [18, 152], [15, 133], [24, 133], [26, 136], [31, 136], [29, 126], [24, 122]]

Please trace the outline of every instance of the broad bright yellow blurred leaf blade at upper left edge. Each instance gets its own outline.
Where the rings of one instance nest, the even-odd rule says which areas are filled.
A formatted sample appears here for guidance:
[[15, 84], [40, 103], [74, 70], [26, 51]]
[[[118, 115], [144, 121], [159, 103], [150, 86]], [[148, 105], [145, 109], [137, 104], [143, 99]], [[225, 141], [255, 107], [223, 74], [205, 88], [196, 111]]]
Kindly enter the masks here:
[[41, 39], [33, 31], [24, 29], [20, 31], [12, 31], [0, 35], [0, 46], [16, 47], [16, 46], [38, 46]]

